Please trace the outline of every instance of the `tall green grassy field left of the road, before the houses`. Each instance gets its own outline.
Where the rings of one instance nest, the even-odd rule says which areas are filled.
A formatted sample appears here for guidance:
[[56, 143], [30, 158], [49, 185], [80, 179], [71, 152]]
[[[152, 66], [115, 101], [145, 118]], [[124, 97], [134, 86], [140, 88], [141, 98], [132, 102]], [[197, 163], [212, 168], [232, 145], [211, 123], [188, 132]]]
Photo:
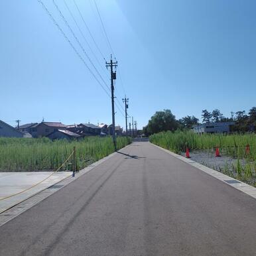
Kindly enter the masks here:
[[[129, 143], [125, 137], [117, 137], [117, 149]], [[72, 153], [74, 146], [78, 170], [114, 152], [111, 137], [86, 137], [82, 141], [0, 138], [0, 170], [55, 170]]]

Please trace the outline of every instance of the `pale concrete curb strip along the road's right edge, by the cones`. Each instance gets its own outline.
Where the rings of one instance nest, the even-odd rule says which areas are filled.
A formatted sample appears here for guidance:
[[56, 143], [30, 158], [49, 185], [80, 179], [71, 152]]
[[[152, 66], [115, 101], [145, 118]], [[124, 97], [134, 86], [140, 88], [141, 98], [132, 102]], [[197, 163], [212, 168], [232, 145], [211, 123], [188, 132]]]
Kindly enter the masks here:
[[256, 188], [254, 188], [253, 186], [250, 186], [244, 182], [241, 182], [240, 180], [236, 180], [235, 178], [231, 178], [231, 177], [223, 174], [222, 172], [218, 172], [217, 170], [214, 170], [207, 166], [199, 164], [198, 162], [195, 162], [194, 160], [186, 159], [186, 157], [182, 157], [178, 154], [168, 151], [167, 149], [163, 149], [162, 147], [159, 147], [153, 143], [151, 143], [151, 145], [161, 149], [162, 151], [164, 151], [165, 153], [168, 153], [169, 155], [172, 155], [172, 157], [176, 157], [177, 159], [180, 159], [183, 162], [186, 162], [187, 164], [190, 164], [190, 165], [198, 168], [199, 170], [206, 172], [210, 176], [213, 176], [214, 178], [221, 180], [225, 184], [232, 186], [233, 188], [236, 188], [237, 190], [240, 190], [241, 192], [256, 199]]

